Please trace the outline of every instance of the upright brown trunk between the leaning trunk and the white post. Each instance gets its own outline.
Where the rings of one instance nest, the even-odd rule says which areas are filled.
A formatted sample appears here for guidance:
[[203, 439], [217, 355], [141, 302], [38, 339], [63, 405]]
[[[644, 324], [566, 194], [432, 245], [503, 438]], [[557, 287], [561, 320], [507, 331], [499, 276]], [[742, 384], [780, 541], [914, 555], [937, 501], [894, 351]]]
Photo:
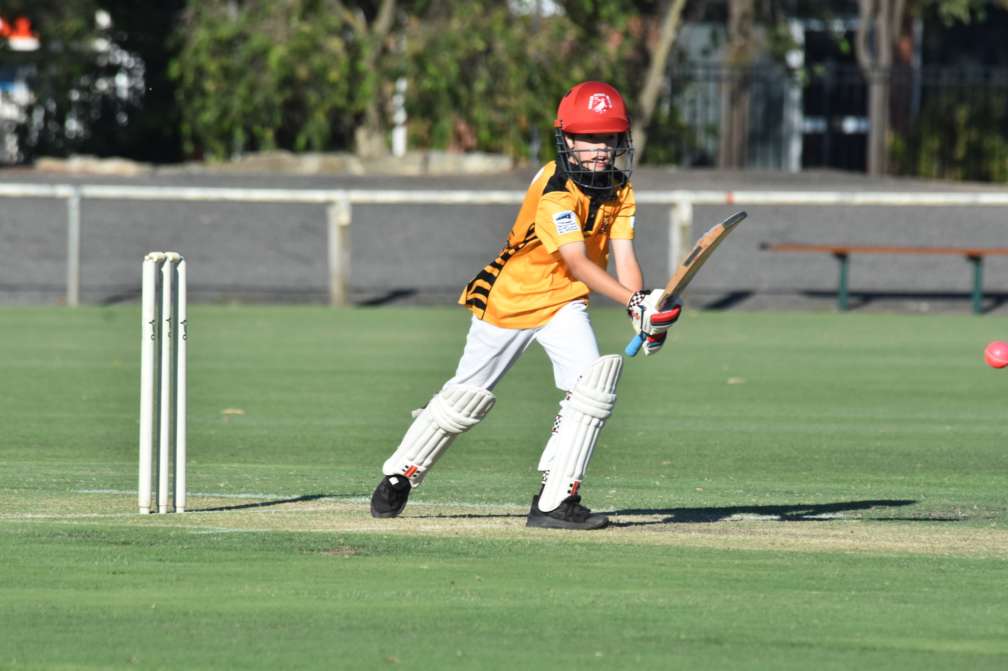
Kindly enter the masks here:
[[749, 145], [749, 81], [746, 66], [755, 47], [754, 0], [728, 2], [728, 66], [721, 88], [721, 148], [718, 167], [744, 168]]

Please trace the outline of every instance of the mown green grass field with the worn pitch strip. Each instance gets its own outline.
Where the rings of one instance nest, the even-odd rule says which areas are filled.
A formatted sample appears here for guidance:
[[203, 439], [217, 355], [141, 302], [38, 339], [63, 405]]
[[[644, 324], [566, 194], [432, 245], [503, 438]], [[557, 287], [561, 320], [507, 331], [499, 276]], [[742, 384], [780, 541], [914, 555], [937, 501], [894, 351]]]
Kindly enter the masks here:
[[537, 345], [370, 517], [468, 323], [391, 314], [191, 308], [193, 512], [140, 516], [139, 310], [0, 310], [0, 668], [1008, 667], [1008, 320], [687, 313], [626, 363], [579, 534], [523, 526]]

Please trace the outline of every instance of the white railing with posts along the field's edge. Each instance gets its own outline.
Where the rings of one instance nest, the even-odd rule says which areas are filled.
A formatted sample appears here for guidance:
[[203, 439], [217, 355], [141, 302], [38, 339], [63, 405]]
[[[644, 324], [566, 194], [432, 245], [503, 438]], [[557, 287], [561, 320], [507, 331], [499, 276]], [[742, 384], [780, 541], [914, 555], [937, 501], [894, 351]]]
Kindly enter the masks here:
[[[347, 305], [350, 281], [349, 226], [353, 205], [520, 204], [524, 191], [410, 191], [366, 189], [244, 189], [97, 184], [0, 183], [0, 197], [67, 200], [67, 305], [81, 298], [81, 200], [175, 200], [319, 203], [328, 222], [330, 304]], [[893, 205], [1008, 206], [1008, 192], [985, 191], [640, 191], [637, 202], [668, 205], [668, 268], [674, 272], [692, 240], [694, 205]]]

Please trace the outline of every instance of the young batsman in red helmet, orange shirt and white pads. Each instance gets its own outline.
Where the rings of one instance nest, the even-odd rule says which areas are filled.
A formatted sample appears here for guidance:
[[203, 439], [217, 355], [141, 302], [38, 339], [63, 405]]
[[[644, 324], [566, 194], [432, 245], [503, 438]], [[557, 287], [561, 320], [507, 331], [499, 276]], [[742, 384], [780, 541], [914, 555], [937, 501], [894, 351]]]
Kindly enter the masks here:
[[[456, 439], [487, 415], [494, 386], [537, 340], [565, 393], [539, 470], [542, 488], [532, 497], [527, 526], [598, 529], [605, 515], [581, 505], [578, 489], [599, 431], [612, 414], [623, 359], [599, 355], [588, 316], [588, 295], [598, 292], [627, 306], [644, 353], [661, 349], [681, 301], [658, 312], [662, 290], [642, 291], [634, 254], [630, 186], [633, 142], [619, 93], [586, 81], [566, 93], [556, 114], [557, 157], [535, 176], [500, 256], [459, 299], [473, 312], [455, 377], [423, 407], [382, 472], [371, 514], [395, 517]], [[606, 267], [612, 256], [614, 280]]]

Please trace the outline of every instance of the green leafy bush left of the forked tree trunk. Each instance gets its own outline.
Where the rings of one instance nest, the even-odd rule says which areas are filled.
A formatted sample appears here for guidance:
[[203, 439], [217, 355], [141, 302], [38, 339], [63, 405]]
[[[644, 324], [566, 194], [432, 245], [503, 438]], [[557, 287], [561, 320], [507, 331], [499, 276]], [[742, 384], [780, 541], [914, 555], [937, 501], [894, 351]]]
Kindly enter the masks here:
[[322, 150], [344, 140], [359, 49], [333, 3], [200, 0], [176, 35], [170, 76], [186, 154], [220, 160], [243, 149]]

